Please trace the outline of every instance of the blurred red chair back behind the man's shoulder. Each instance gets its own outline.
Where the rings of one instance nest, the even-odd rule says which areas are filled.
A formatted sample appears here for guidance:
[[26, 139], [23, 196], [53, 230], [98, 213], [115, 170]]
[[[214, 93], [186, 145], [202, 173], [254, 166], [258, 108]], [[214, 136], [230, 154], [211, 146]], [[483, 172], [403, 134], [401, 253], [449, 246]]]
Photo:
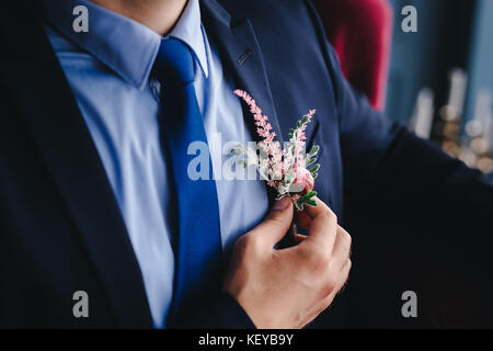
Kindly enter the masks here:
[[312, 0], [342, 70], [377, 110], [385, 106], [392, 36], [387, 0]]

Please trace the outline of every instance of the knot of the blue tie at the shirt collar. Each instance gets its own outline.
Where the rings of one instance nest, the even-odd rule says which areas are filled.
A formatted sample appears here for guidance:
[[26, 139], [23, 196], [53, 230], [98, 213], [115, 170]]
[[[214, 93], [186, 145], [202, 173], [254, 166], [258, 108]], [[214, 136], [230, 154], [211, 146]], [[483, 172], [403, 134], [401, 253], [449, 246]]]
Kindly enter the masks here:
[[153, 73], [165, 88], [183, 87], [194, 81], [192, 52], [180, 39], [163, 38], [156, 57]]

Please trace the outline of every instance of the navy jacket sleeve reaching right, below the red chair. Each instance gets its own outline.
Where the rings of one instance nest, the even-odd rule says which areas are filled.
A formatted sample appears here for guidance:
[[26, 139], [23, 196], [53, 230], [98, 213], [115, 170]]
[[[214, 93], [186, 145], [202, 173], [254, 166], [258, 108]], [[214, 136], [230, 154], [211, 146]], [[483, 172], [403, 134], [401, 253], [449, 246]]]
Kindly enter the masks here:
[[[344, 79], [312, 7], [310, 11], [336, 101], [346, 202], [362, 204], [380, 220], [398, 216], [415, 233], [426, 227], [427, 233], [455, 238], [459, 245], [466, 241], [475, 258], [493, 267], [488, 259], [493, 245], [491, 182], [375, 111]], [[377, 204], [386, 212], [371, 213], [382, 208]]]

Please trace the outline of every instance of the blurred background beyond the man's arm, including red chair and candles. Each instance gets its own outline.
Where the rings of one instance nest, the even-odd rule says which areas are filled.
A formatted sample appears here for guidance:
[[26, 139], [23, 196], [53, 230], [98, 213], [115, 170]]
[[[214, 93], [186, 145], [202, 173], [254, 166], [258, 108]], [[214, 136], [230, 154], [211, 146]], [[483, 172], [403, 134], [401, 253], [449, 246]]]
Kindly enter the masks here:
[[[313, 3], [374, 106], [493, 181], [493, 0]], [[410, 5], [417, 32], [403, 30]]]

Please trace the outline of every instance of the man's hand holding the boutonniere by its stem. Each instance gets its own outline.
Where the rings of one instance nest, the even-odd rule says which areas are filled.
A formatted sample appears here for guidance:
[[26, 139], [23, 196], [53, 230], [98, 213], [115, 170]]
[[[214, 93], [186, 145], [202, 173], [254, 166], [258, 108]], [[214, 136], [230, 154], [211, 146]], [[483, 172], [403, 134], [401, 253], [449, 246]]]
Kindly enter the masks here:
[[225, 290], [257, 328], [302, 328], [333, 301], [351, 270], [351, 236], [320, 200], [299, 213], [309, 236], [299, 245], [275, 250], [293, 219], [293, 204], [283, 199], [267, 218], [234, 246]]

